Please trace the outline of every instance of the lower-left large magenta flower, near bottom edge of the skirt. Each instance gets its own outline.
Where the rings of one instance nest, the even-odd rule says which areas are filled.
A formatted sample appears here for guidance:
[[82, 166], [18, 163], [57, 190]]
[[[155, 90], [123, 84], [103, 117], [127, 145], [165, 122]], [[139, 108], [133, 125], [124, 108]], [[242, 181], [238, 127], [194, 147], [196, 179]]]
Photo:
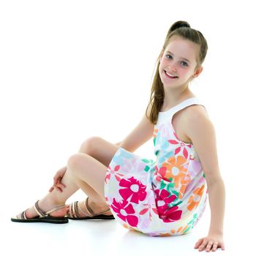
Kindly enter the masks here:
[[124, 222], [127, 222], [130, 226], [137, 227], [138, 217], [132, 215], [135, 214], [135, 210], [131, 203], [126, 200], [123, 200], [122, 202], [116, 202], [116, 199], [113, 198], [111, 208], [116, 212], [117, 217], [122, 219]]

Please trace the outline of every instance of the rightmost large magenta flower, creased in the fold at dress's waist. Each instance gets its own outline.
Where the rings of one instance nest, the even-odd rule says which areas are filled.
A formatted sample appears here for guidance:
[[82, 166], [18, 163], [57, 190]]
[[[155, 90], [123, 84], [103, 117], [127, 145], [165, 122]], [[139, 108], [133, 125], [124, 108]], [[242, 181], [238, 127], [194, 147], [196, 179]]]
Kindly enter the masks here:
[[165, 189], [161, 189], [161, 192], [159, 189], [156, 189], [155, 192], [157, 195], [156, 203], [160, 219], [162, 219], [163, 222], [174, 222], [181, 219], [182, 211], [178, 210], [178, 206], [168, 206], [169, 203], [176, 200], [176, 195], [169, 196], [170, 193]]

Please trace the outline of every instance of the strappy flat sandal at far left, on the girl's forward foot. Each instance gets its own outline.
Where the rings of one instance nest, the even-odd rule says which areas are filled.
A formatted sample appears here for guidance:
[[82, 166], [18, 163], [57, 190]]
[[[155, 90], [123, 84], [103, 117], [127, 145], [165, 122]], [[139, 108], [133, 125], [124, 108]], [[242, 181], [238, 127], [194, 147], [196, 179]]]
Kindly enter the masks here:
[[34, 218], [27, 218], [26, 217], [26, 209], [25, 211], [20, 212], [16, 217], [12, 217], [11, 221], [12, 222], [48, 222], [48, 223], [55, 223], [55, 224], [62, 224], [62, 223], [67, 223], [69, 222], [69, 219], [67, 217], [53, 217], [50, 216], [50, 213], [53, 211], [57, 211], [61, 208], [66, 207], [66, 205], [59, 206], [56, 208], [51, 209], [50, 211], [44, 212], [42, 211], [41, 208], [38, 206], [38, 201], [34, 204], [34, 209], [37, 211], [37, 214], [39, 215], [38, 217]]

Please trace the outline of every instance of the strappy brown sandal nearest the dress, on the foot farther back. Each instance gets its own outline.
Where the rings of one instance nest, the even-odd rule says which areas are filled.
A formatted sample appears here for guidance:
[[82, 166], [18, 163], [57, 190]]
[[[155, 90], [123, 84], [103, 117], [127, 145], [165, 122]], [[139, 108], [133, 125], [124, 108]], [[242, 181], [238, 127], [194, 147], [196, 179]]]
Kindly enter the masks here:
[[79, 211], [83, 212], [83, 214], [88, 215], [85, 211], [83, 211], [82, 208], [78, 205], [78, 201], [75, 201], [69, 205], [69, 212], [67, 213], [67, 217], [69, 219], [115, 219], [113, 215], [105, 215], [107, 211], [110, 211], [108, 209], [107, 211], [102, 211], [98, 214], [95, 214], [94, 211], [92, 211], [91, 207], [88, 204], [88, 198], [86, 198], [86, 209], [89, 211], [91, 216], [81, 217], [79, 214]]

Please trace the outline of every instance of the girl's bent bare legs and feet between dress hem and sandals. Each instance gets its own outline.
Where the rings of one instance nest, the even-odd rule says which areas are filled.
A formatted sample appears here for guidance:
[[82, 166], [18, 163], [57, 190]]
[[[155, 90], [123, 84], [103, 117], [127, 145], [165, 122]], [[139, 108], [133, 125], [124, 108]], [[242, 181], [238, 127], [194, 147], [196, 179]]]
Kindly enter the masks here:
[[[62, 189], [62, 192], [53, 189], [52, 192], [39, 200], [39, 207], [43, 211], [49, 211], [61, 206], [80, 188], [88, 195], [89, 206], [95, 213], [108, 209], [104, 195], [105, 173], [117, 150], [118, 146], [99, 137], [86, 140], [80, 147], [79, 153], [69, 157], [67, 171], [61, 180], [66, 187]], [[83, 208], [84, 206], [80, 207]], [[65, 214], [66, 208], [61, 208], [51, 215], [57, 217]], [[36, 216], [34, 207], [26, 211], [26, 217]]]

